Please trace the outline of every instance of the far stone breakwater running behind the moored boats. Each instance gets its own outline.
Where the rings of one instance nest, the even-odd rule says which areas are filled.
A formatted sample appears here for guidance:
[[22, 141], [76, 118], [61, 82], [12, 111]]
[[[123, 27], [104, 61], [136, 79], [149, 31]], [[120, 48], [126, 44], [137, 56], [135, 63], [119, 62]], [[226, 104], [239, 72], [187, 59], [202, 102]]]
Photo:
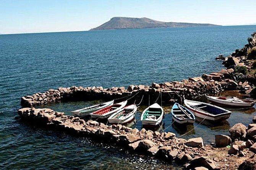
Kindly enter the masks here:
[[[151, 102], [160, 102], [161, 93], [162, 103], [168, 105], [172, 101], [180, 99], [197, 99], [205, 94], [214, 94], [223, 90], [243, 90], [251, 89], [248, 82], [236, 82], [232, 80], [233, 69], [221, 70], [220, 72], [203, 74], [202, 77], [189, 78], [181, 82], [152, 83], [151, 86], [130, 85], [125, 87], [59, 87], [57, 90], [50, 89], [44, 93], [36, 93], [31, 96], [21, 98], [21, 106], [31, 107], [54, 103], [56, 101], [91, 101], [96, 99], [111, 100], [134, 96], [137, 103], [142, 100], [142, 104], [148, 104], [148, 95]], [[146, 96], [143, 98], [143, 96]], [[158, 99], [158, 100], [157, 100]]]

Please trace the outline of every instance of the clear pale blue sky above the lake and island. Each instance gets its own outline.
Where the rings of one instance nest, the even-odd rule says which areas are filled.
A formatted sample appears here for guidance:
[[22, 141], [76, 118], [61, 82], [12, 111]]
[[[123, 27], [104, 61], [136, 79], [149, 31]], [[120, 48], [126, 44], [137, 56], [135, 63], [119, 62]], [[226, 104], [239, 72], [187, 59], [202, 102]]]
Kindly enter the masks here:
[[89, 30], [114, 16], [256, 24], [256, 0], [0, 0], [0, 33]]

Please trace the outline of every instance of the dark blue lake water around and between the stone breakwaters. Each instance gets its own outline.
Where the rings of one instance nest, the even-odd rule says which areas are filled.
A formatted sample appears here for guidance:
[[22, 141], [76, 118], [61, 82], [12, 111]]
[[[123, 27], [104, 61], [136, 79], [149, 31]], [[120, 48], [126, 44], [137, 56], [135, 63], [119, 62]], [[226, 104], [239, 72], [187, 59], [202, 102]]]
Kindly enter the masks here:
[[[219, 71], [219, 54], [242, 48], [256, 26], [104, 30], [0, 35], [0, 168], [2, 169], [171, 169], [158, 160], [140, 158], [111, 144], [36, 127], [15, 119], [20, 97], [50, 88], [150, 85]], [[227, 95], [227, 94], [223, 94]], [[238, 95], [232, 94], [232, 95]], [[66, 112], [100, 101], [49, 104]], [[142, 128], [140, 106], [130, 127]], [[164, 106], [165, 112], [170, 106]], [[234, 109], [226, 121], [200, 120], [187, 127], [166, 114], [160, 132], [181, 138], [228, 134], [235, 123], [248, 125], [251, 109]], [[174, 166], [176, 167], [176, 165]]]

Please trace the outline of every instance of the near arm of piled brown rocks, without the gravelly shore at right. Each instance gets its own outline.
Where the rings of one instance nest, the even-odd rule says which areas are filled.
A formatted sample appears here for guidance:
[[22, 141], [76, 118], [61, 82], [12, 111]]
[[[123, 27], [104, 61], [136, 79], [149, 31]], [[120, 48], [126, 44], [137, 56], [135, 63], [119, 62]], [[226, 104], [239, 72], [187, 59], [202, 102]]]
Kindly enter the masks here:
[[93, 120], [87, 122], [79, 117], [64, 115], [52, 109], [22, 108], [18, 110], [22, 119], [59, 128], [66, 132], [97, 138], [99, 142], [119, 144], [120, 147], [146, 156], [156, 157], [167, 162], [175, 161], [180, 164], [189, 163], [188, 168], [198, 165], [208, 169], [215, 169], [213, 160], [204, 157], [206, 148], [202, 138], [185, 140], [176, 138], [171, 132], [140, 131], [123, 125], [105, 125]]

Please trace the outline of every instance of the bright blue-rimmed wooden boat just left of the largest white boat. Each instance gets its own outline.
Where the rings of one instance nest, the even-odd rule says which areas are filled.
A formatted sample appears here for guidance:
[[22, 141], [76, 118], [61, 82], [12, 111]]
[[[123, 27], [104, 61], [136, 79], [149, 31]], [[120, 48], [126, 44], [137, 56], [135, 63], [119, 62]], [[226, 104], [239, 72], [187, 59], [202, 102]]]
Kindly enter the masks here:
[[191, 111], [178, 103], [175, 103], [172, 106], [171, 114], [173, 121], [180, 124], [194, 123], [194, 121], [196, 120], [194, 114]]

